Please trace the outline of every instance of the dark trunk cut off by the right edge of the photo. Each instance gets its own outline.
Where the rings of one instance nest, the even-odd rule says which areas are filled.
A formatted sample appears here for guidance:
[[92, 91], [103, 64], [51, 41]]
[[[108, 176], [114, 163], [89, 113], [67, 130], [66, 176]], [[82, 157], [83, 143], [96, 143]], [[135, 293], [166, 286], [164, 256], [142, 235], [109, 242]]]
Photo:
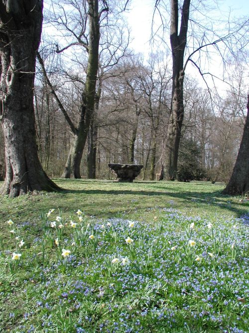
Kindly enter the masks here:
[[249, 95], [247, 119], [234, 170], [224, 194], [244, 195], [249, 192]]

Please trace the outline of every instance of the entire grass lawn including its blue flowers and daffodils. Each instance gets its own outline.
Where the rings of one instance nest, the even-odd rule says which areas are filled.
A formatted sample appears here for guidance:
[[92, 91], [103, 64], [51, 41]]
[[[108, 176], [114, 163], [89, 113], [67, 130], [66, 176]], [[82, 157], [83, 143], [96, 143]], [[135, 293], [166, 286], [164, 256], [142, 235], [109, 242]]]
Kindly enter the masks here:
[[249, 200], [209, 182], [55, 182], [0, 197], [0, 332], [249, 332]]

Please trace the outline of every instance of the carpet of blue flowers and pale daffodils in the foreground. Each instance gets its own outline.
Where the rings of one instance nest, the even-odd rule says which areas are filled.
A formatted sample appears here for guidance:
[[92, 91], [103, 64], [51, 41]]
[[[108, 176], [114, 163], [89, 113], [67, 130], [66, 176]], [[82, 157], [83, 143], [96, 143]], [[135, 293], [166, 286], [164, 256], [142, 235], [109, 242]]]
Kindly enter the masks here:
[[6, 223], [14, 245], [0, 254], [2, 332], [248, 330], [249, 229], [240, 219], [164, 209], [146, 224], [50, 209], [35, 239]]

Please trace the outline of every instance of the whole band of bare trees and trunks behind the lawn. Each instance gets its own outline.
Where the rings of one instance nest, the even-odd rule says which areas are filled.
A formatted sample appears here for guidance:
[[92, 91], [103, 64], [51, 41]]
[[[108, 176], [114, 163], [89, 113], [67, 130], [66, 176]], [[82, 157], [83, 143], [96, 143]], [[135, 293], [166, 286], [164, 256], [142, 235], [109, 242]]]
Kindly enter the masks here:
[[[200, 39], [190, 47], [194, 6], [171, 0], [171, 50], [144, 61], [129, 49], [122, 16], [128, 1], [52, 4], [44, 21], [63, 38], [44, 34], [40, 43], [42, 1], [0, 1], [3, 194], [59, 190], [47, 174], [108, 178], [109, 162], [143, 164], [143, 179], [228, 181], [238, 151], [236, 165], [244, 166], [234, 168], [237, 185], [230, 182], [229, 191], [248, 191], [245, 68], [235, 69], [223, 53], [233, 72], [223, 94], [186, 73], [192, 64], [207, 83], [200, 53], [208, 55], [210, 47], [225, 45], [230, 58], [239, 59], [248, 21], [223, 37], [196, 23]], [[164, 10], [164, 2], [155, 1], [154, 15], [164, 17]], [[162, 18], [162, 38], [166, 25]]]

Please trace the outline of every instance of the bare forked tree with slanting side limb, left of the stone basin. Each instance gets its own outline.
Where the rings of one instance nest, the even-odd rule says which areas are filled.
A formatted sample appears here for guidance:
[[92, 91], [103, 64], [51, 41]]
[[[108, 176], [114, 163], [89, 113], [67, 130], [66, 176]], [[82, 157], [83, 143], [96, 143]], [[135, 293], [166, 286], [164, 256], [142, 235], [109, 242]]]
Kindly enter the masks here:
[[[118, 25], [117, 22], [110, 24], [111, 21], [109, 18], [107, 20], [107, 16], [102, 17], [104, 12], [109, 11], [108, 2], [105, 0], [88, 0], [87, 2], [88, 7], [86, 1], [83, 1], [82, 5], [75, 0], [67, 2], [67, 4], [70, 4], [73, 8], [69, 13], [67, 13], [62, 4], [58, 2], [57, 7], [59, 7], [60, 13], [57, 13], [54, 8], [53, 14], [49, 18], [50, 23], [55, 24], [58, 29], [63, 31], [63, 35], [69, 38], [67, 45], [61, 48], [59, 48], [59, 45], [56, 46], [58, 53], [61, 54], [64, 51], [68, 51], [72, 46], [76, 47], [76, 50], [77, 48], [79, 49], [79, 47], [83, 47], [83, 49], [87, 50], [87, 59], [83, 54], [80, 54], [80, 56], [77, 55], [77, 52], [75, 54], [73, 62], [77, 64], [77, 68], [74, 71], [76, 74], [73, 73], [73, 71], [71, 71], [71, 73], [69, 73], [68, 70], [66, 71], [67, 79], [79, 81], [80, 84], [83, 85], [81, 105], [76, 121], [71, 119], [63, 103], [61, 103], [56, 88], [49, 80], [43, 59], [40, 54], [37, 54], [45, 80], [50, 86], [51, 92], [55, 96], [57, 104], [64, 114], [74, 136], [74, 143], [71, 145], [66, 166], [62, 174], [62, 177], [65, 178], [80, 177], [80, 163], [87, 138], [89, 139], [88, 177], [95, 177], [93, 170], [95, 169], [94, 162], [96, 160], [97, 137], [95, 118], [98, 114], [102, 82], [106, 78], [108, 71], [124, 56], [127, 48], [127, 43], [124, 42], [123, 27]], [[97, 8], [98, 4], [100, 4], [99, 9]], [[112, 10], [112, 8], [110, 10]], [[114, 31], [111, 31], [115, 28], [120, 31], [118, 37]], [[102, 29], [101, 42], [100, 29]], [[83, 73], [83, 75], [80, 76], [78, 72]], [[97, 91], [95, 91], [96, 84]], [[95, 89], [93, 89], [93, 87], [95, 87]], [[86, 103], [90, 104], [88, 105]]]

